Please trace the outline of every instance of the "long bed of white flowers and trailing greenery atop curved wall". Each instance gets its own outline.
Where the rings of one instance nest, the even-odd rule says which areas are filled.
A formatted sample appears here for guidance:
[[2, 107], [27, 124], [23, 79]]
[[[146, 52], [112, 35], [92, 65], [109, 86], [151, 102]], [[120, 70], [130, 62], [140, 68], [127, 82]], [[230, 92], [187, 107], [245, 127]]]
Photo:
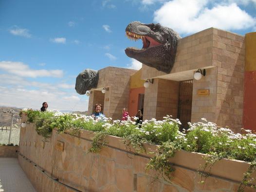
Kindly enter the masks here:
[[[164, 121], [155, 119], [145, 121], [141, 127], [135, 122], [111, 121], [104, 118], [101, 121], [94, 121], [90, 116], [79, 116], [77, 114], [61, 114], [28, 110], [28, 122], [35, 122], [39, 135], [46, 139], [50, 137], [52, 130], [57, 127], [58, 132], [69, 132], [79, 134], [81, 129], [95, 132], [92, 140], [91, 152], [97, 153], [108, 141], [107, 135], [123, 138], [129, 148], [132, 146], [136, 153], [144, 153], [143, 143], [159, 145], [156, 152], [151, 154], [147, 169], [158, 171], [166, 180], [171, 179], [173, 168], [169, 159], [174, 157], [178, 150], [209, 154], [205, 156], [206, 163], [199, 169], [201, 181], [211, 172], [211, 167], [220, 159], [238, 159], [248, 161], [250, 168], [246, 172], [242, 184], [253, 185], [254, 180], [250, 175], [256, 168], [256, 135], [250, 130], [244, 130], [243, 134], [233, 133], [230, 129], [220, 128], [215, 123], [197, 122], [190, 124], [190, 128], [183, 132], [179, 131], [180, 121], [165, 117]], [[253, 185], [255, 187], [255, 185]], [[241, 185], [239, 191], [243, 190]]]

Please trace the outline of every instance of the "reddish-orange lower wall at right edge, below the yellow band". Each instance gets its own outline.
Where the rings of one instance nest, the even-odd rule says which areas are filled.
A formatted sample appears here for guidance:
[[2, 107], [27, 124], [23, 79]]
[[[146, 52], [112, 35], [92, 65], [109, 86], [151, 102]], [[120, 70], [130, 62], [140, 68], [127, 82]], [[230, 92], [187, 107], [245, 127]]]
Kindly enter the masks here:
[[243, 128], [256, 131], [256, 70], [245, 71]]

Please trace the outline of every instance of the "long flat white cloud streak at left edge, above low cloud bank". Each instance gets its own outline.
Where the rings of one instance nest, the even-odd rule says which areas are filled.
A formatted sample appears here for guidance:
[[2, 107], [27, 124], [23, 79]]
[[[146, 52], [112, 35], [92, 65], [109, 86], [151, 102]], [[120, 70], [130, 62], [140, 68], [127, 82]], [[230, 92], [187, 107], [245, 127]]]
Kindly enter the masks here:
[[0, 69], [21, 77], [62, 77], [62, 70], [33, 70], [22, 62], [0, 61]]

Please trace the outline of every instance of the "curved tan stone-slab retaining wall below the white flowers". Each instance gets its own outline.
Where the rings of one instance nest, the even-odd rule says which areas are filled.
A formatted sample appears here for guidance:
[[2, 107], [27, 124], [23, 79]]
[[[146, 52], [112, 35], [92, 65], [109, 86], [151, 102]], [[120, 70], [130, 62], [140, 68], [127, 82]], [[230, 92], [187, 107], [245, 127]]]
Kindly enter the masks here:
[[[145, 171], [150, 155], [134, 155], [132, 148], [127, 151], [121, 138], [108, 136], [108, 147], [97, 154], [88, 153], [93, 135], [83, 131], [74, 137], [54, 130], [48, 142], [43, 142], [31, 123], [20, 131], [19, 164], [38, 192], [73, 191], [60, 183], [82, 192], [234, 192], [249, 167], [245, 162], [221, 160], [205, 183], [199, 184], [196, 169], [204, 163], [202, 154], [179, 151], [170, 159], [176, 171], [172, 183], [168, 183], [161, 177], [155, 179], [154, 171]], [[63, 149], [57, 147], [58, 142], [63, 143]], [[145, 147], [147, 151], [156, 148], [148, 144]]]

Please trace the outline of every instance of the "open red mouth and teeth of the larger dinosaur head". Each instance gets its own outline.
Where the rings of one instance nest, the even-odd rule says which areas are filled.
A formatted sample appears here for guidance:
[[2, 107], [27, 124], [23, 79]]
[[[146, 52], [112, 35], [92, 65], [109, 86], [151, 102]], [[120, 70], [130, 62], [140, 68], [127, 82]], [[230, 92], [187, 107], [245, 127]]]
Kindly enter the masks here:
[[145, 51], [148, 48], [163, 45], [162, 43], [157, 42], [155, 39], [147, 36], [147, 35], [138, 35], [131, 32], [126, 32], [126, 35], [129, 39], [137, 41], [138, 39], [142, 39], [143, 47], [142, 49], [136, 47], [128, 47], [127, 49], [131, 49], [134, 51]]

